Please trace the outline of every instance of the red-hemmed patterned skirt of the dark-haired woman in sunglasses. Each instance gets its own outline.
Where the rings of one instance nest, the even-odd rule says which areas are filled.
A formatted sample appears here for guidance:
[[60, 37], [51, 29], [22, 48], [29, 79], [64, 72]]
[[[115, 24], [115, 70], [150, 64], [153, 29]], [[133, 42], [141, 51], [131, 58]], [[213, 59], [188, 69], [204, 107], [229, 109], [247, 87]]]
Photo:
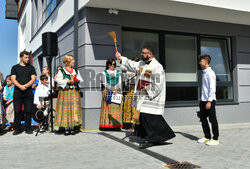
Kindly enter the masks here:
[[108, 90], [102, 92], [102, 105], [100, 112], [100, 128], [122, 127], [122, 104], [107, 102]]

